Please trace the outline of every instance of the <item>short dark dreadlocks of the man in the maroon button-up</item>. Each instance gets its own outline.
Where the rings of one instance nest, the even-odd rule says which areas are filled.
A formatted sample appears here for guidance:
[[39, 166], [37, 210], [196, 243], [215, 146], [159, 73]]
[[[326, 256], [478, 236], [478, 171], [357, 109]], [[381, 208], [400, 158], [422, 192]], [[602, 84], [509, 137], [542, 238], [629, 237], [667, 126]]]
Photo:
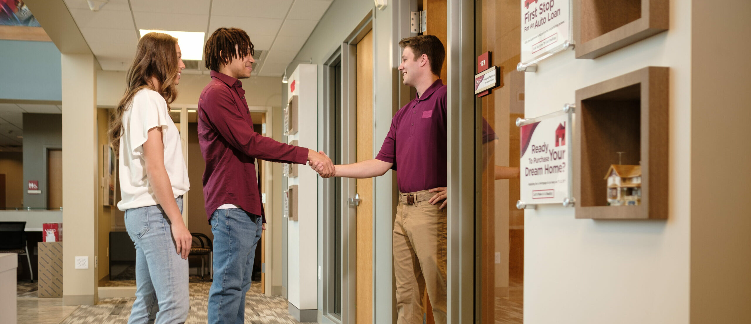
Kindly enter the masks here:
[[[237, 46], [237, 49], [235, 49]], [[219, 67], [228, 65], [233, 58], [255, 55], [253, 43], [243, 29], [221, 27], [211, 34], [204, 46], [206, 68], [219, 72]]]

